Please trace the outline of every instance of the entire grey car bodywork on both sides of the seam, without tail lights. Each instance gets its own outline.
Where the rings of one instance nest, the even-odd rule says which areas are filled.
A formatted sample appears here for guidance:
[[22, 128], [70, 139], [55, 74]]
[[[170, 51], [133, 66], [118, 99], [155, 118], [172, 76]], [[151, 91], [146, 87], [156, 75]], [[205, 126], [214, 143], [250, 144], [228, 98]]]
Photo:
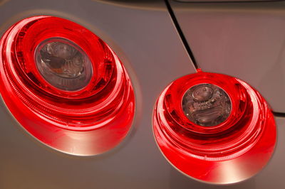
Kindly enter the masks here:
[[[284, 2], [268, 3], [268, 6], [274, 7], [272, 9], [267, 9], [261, 2], [212, 5], [177, 1], [169, 3], [170, 7], [167, 7], [165, 1], [10, 0], [0, 3], [1, 35], [16, 21], [35, 15], [67, 18], [93, 31], [113, 48], [125, 65], [133, 82], [137, 104], [133, 129], [122, 144], [107, 153], [81, 157], [58, 152], [38, 142], [21, 128], [1, 100], [0, 188], [220, 188], [192, 180], [173, 168], [160, 153], [152, 134], [152, 111], [160, 92], [178, 77], [196, 72], [195, 64], [189, 50], [185, 48], [181, 33], [173, 23], [169, 8], [172, 9], [186, 42], [189, 43], [196, 67], [232, 75], [249, 82], [266, 97], [276, 112], [284, 112], [282, 103], [285, 102], [281, 100], [284, 91], [284, 80], [281, 76], [283, 70], [278, 69], [283, 68], [282, 55], [278, 59], [275, 54], [277, 50], [282, 50], [283, 43], [275, 45], [277, 42], [283, 42], [279, 37], [284, 38], [280, 31], [284, 28], [281, 24], [284, 18]], [[247, 8], [247, 14], [243, 14], [242, 8], [239, 9], [242, 12], [237, 13], [235, 6]], [[252, 18], [252, 12], [257, 11], [254, 8], [256, 6], [262, 6], [264, 9]], [[235, 24], [230, 21], [231, 9], [235, 10]], [[222, 11], [222, 16], [219, 11]], [[207, 15], [204, 16], [204, 13]], [[274, 16], [275, 14], [277, 16]], [[229, 23], [223, 26], [230, 31], [223, 30], [225, 34], [219, 36], [219, 25], [213, 27], [208, 24], [209, 17], [214, 23], [220, 23], [221, 18], [226, 19], [222, 23]], [[241, 37], [253, 44], [247, 45], [246, 51], [251, 53], [245, 53], [244, 57], [234, 51], [235, 48], [240, 50], [242, 45], [236, 45], [238, 41], [227, 33], [252, 31], [249, 28], [244, 29], [242, 25], [243, 18], [247, 21], [247, 17], [262, 23], [264, 21], [259, 19], [265, 19], [267, 24], [276, 18], [275, 28], [270, 26], [271, 30], [254, 31], [254, 36], [258, 37], [255, 38], [257, 41], [268, 33], [274, 35], [275, 41], [269, 40], [263, 49], [259, 43], [251, 42], [250, 36], [246, 39]], [[207, 31], [207, 27], [216, 28], [216, 33], [209, 30], [209, 33], [204, 35], [212, 36], [201, 37], [201, 28], [202, 31]], [[206, 41], [221, 38], [224, 43]], [[221, 45], [225, 44], [227, 46], [222, 48]], [[269, 51], [269, 47], [276, 49]], [[217, 56], [211, 54], [212, 49]], [[279, 61], [266, 61], [272, 58]], [[250, 63], [245, 60], [250, 60]], [[229, 62], [230, 65], [227, 65]], [[278, 70], [277, 74], [270, 72], [272, 69]], [[266, 72], [269, 72], [269, 76]], [[263, 85], [264, 77], [265, 83], [269, 84]], [[268, 87], [272, 86], [275, 90], [280, 90], [270, 90]], [[276, 115], [277, 145], [268, 166], [253, 178], [224, 188], [285, 188], [285, 180], [282, 179], [285, 170], [282, 161], [285, 158], [285, 120], [278, 117], [283, 114]], [[229, 169], [229, 176], [234, 174], [238, 174], [235, 169]]]

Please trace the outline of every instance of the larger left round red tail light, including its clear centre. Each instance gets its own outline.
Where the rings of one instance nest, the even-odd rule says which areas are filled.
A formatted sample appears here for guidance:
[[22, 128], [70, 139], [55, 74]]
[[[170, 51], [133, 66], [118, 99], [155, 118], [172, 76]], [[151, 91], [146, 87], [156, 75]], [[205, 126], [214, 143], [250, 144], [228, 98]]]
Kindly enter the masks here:
[[[47, 45], [61, 57], [45, 54]], [[66, 49], [77, 57], [66, 58]], [[4, 33], [0, 53], [1, 97], [39, 141], [89, 156], [128, 134], [135, 112], [130, 78], [113, 50], [88, 29], [54, 16], [25, 18]]]

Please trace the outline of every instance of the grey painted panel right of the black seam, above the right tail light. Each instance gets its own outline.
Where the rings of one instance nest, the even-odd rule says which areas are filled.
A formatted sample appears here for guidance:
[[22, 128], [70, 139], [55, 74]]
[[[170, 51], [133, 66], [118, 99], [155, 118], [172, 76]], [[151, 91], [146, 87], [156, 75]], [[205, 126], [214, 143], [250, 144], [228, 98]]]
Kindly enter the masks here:
[[285, 112], [285, 1], [170, 1], [197, 64], [244, 80]]

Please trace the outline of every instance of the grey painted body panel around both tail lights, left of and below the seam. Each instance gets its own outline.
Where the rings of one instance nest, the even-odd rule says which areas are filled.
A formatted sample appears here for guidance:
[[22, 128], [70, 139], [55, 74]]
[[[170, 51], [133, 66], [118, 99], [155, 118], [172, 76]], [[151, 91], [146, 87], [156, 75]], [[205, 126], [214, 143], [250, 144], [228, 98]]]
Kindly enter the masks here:
[[[80, 157], [36, 141], [1, 100], [1, 189], [221, 188], [183, 175], [155, 144], [151, 123], [157, 97], [173, 80], [195, 72], [164, 1], [10, 0], [0, 5], [1, 35], [21, 18], [48, 14], [80, 23], [103, 38], [125, 64], [137, 101], [133, 130], [120, 146], [99, 156]], [[277, 146], [268, 166], [249, 180], [223, 188], [285, 188], [285, 119], [276, 117], [276, 125]]]

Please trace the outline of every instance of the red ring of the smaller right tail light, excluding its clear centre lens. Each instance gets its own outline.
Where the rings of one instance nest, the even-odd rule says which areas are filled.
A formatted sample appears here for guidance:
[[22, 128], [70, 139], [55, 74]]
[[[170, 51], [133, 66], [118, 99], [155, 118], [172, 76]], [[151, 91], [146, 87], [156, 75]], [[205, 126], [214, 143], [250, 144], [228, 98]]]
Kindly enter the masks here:
[[[217, 86], [229, 96], [232, 109], [222, 123], [202, 126], [183, 112], [185, 92], [201, 84]], [[259, 92], [242, 80], [216, 73], [197, 72], [172, 82], [157, 100], [152, 124], [157, 144], [172, 166], [205, 183], [237, 183], [252, 177], [269, 161], [276, 143], [274, 117]]]

